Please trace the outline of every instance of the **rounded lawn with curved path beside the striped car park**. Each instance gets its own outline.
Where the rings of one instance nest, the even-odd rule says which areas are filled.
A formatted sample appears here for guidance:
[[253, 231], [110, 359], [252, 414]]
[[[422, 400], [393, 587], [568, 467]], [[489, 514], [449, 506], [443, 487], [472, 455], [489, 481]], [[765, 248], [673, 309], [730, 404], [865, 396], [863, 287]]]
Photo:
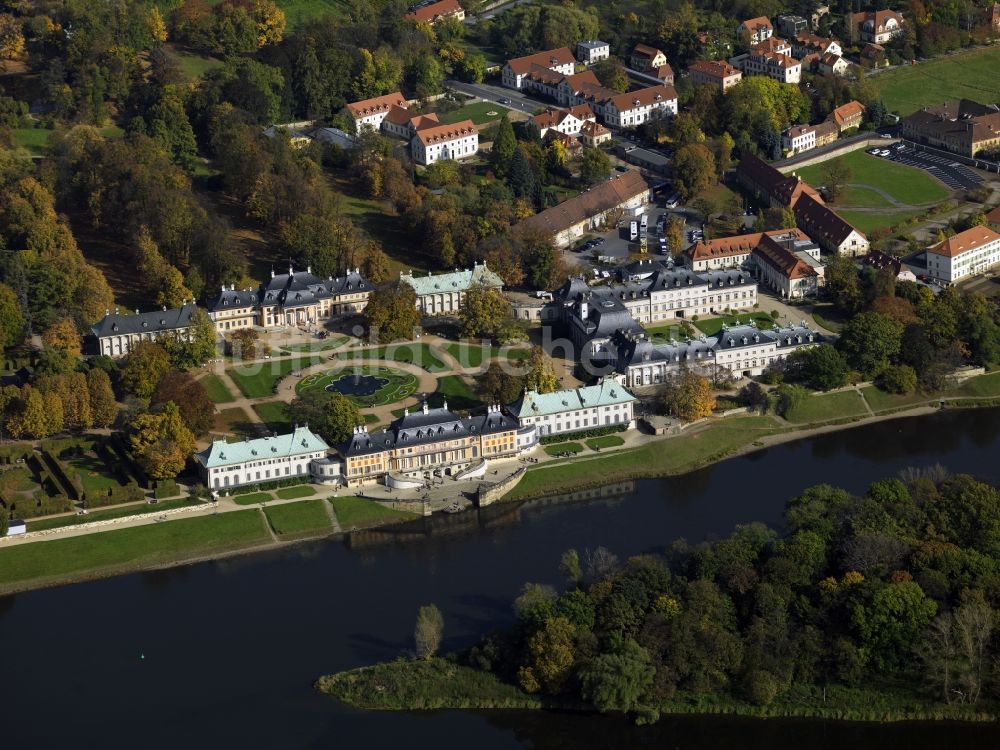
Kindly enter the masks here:
[[[944, 100], [942, 99], [941, 101]], [[837, 158], [851, 169], [851, 177], [847, 180], [848, 183], [851, 185], [868, 185], [883, 190], [904, 204], [902, 207], [943, 201], [951, 193], [948, 188], [923, 170], [915, 167], [906, 167], [888, 159], [872, 156], [864, 149], [858, 149]], [[795, 174], [813, 187], [818, 188], [820, 185], [826, 184], [826, 177], [823, 175], [825, 167], [826, 162], [811, 164], [808, 167], [796, 169]], [[872, 193], [872, 195], [876, 194]], [[852, 205], [848, 203], [847, 197], [850, 197], [850, 194], [838, 200], [837, 205]], [[881, 196], [877, 197], [885, 201]], [[873, 204], [872, 200], [868, 198], [867, 202], [865, 202], [863, 199], [862, 203], [856, 205], [874, 205], [875, 207], [888, 205], [888, 201], [885, 201], [884, 204]]]

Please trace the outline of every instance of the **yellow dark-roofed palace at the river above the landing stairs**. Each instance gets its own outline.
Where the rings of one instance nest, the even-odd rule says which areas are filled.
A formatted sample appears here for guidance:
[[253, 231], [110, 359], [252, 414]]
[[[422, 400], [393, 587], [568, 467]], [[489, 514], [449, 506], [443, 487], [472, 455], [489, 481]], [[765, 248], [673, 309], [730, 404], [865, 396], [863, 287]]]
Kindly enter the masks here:
[[[434, 476], [467, 474], [485, 468], [491, 458], [517, 455], [517, 419], [490, 406], [485, 414], [461, 417], [445, 402], [431, 409], [404, 410], [381, 432], [357, 427], [337, 446], [348, 486], [382, 481], [389, 487], [414, 488]], [[525, 428], [530, 430], [531, 428]]]

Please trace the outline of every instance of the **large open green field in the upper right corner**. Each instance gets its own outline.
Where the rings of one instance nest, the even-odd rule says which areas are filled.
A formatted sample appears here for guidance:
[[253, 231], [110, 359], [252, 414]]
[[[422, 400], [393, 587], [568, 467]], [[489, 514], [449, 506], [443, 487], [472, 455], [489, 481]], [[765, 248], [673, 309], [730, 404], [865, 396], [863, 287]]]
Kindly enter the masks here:
[[872, 76], [890, 112], [906, 115], [948, 99], [1000, 100], [1000, 48], [945, 55]]

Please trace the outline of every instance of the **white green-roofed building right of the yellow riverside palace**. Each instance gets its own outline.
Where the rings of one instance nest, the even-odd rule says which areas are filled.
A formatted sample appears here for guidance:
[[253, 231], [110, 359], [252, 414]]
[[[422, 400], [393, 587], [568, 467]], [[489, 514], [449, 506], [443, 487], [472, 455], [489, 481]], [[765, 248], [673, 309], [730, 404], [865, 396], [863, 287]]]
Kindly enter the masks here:
[[507, 410], [522, 427], [535, 427], [538, 437], [604, 427], [635, 427], [636, 398], [613, 378], [597, 385], [538, 393], [525, 390]]

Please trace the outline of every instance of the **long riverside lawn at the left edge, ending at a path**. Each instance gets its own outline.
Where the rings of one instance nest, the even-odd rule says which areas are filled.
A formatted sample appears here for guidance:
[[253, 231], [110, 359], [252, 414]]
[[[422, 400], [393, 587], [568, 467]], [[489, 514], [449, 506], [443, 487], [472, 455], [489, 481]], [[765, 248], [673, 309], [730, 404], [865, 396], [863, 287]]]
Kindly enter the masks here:
[[133, 569], [267, 541], [256, 510], [137, 526], [0, 549], [0, 586]]

